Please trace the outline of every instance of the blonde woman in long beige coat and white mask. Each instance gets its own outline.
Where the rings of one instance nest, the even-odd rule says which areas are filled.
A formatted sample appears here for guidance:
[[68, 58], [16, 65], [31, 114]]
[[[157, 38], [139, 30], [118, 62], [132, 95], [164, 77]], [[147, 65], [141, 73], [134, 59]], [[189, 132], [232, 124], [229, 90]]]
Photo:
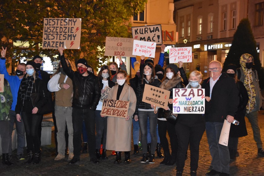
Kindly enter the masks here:
[[136, 109], [136, 94], [128, 85], [125, 71], [117, 73], [117, 84], [108, 93], [107, 99], [129, 101], [127, 118], [109, 117], [107, 118], [106, 149], [116, 151], [114, 163], [121, 162], [121, 152], [125, 152], [125, 163], [130, 163], [131, 150], [131, 129], [132, 117]]

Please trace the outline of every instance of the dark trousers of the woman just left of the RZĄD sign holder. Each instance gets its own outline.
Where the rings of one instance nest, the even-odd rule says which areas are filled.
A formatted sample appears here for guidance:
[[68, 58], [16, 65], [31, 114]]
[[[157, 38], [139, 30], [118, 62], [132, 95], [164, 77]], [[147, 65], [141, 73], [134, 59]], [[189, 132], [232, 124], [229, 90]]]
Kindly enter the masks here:
[[169, 143], [166, 137], [166, 133], [168, 131], [169, 139], [170, 139], [170, 147], [171, 147], [171, 156], [172, 158], [176, 159], [177, 156], [177, 149], [178, 149], [178, 141], [177, 141], [177, 135], [175, 131], [175, 125], [168, 121], [164, 120], [158, 120], [158, 130], [159, 130], [159, 136], [161, 139], [161, 145], [163, 148], [163, 151], [166, 156], [169, 156]]

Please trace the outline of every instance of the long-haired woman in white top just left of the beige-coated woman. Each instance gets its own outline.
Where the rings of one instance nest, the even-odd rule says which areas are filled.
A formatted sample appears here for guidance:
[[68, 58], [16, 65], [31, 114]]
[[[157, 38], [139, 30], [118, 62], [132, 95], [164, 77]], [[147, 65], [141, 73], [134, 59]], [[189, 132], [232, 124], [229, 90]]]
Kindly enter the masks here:
[[[113, 83], [110, 80], [110, 71], [107, 65], [104, 65], [99, 73], [98, 73], [98, 78], [100, 79], [100, 85], [101, 85], [101, 98], [100, 101], [96, 107], [95, 110], [95, 123], [96, 123], [96, 143], [95, 143], [95, 152], [96, 152], [96, 157], [98, 159], [103, 158], [107, 159], [106, 156], [106, 131], [107, 131], [107, 118], [102, 118], [100, 113], [102, 110], [102, 105], [103, 105], [103, 98], [106, 96], [106, 90], [112, 88], [115, 83]], [[100, 146], [101, 146], [101, 140], [103, 137], [103, 153], [102, 156], [100, 155]]]

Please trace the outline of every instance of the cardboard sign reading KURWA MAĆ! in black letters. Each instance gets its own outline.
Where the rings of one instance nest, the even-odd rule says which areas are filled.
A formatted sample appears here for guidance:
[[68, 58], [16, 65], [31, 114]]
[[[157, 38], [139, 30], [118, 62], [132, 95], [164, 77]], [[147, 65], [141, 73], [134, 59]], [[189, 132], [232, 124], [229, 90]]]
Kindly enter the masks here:
[[132, 37], [136, 40], [156, 42], [157, 45], [161, 45], [161, 24], [132, 27]]

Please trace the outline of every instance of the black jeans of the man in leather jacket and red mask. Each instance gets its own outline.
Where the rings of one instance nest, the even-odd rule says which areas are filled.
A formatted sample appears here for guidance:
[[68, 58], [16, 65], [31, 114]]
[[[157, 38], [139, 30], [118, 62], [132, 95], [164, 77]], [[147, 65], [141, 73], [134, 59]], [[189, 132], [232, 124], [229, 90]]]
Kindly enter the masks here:
[[92, 109], [73, 108], [73, 154], [80, 158], [82, 122], [87, 132], [87, 144], [90, 158], [95, 157], [95, 111]]

